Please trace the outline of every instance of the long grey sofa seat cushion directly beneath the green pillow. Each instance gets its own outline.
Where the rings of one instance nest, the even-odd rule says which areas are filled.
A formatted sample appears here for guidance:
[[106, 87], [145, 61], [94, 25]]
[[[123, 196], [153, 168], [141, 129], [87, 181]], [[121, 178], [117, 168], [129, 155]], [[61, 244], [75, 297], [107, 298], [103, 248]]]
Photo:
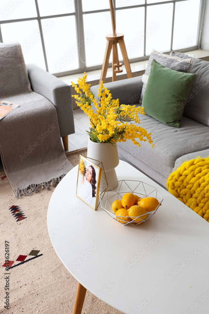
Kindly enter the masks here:
[[118, 153], [165, 187], [178, 158], [209, 149], [209, 127], [195, 120], [182, 116], [180, 128], [170, 127], [147, 115], [140, 115], [140, 120], [140, 126], [152, 133], [155, 146], [152, 148], [149, 143], [140, 142], [138, 148], [127, 140], [117, 143]]

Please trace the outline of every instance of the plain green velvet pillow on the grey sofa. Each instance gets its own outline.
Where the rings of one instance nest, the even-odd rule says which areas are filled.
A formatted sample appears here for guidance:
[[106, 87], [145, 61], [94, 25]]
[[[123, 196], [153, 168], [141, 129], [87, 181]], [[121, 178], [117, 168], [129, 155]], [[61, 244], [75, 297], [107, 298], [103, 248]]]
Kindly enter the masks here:
[[145, 114], [172, 127], [180, 127], [194, 78], [195, 74], [166, 68], [153, 59], [142, 100]]

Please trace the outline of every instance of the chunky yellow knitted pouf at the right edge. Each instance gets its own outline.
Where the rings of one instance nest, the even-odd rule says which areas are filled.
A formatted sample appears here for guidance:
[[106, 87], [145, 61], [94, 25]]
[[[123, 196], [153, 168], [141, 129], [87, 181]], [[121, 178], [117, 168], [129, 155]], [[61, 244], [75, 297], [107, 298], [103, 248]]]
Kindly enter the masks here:
[[209, 222], [209, 157], [185, 161], [170, 174], [167, 189]]

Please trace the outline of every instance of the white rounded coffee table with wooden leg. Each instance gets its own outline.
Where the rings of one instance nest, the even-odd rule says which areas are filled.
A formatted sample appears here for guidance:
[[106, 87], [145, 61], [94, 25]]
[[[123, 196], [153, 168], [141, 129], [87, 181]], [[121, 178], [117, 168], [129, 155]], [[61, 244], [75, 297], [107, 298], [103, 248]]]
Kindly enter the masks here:
[[49, 203], [51, 242], [78, 281], [73, 313], [87, 289], [127, 314], [208, 314], [208, 222], [128, 163], [120, 160], [116, 173], [161, 193], [162, 206], [142, 225], [124, 226], [76, 197], [77, 166]]

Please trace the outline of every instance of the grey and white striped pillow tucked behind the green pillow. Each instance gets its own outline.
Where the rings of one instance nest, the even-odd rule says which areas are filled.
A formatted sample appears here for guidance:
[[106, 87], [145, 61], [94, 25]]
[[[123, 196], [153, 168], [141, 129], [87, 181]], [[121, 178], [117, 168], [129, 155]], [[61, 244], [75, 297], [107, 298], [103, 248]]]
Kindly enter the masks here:
[[192, 63], [192, 58], [188, 57], [185, 59], [177, 57], [177, 56], [169, 56], [166, 55], [164, 53], [158, 52], [156, 50], [152, 50], [150, 57], [149, 57], [149, 61], [147, 64], [147, 68], [145, 70], [145, 73], [142, 77], [142, 82], [143, 87], [142, 87], [142, 92], [141, 92], [141, 101], [144, 97], [144, 91], [147, 85], [147, 81], [149, 78], [149, 73], [150, 73], [150, 69], [151, 69], [151, 64], [152, 64], [152, 60], [155, 59], [157, 62], [159, 62], [161, 65], [163, 65], [164, 67], [170, 68], [172, 70], [176, 70], [179, 72], [188, 72], [189, 68], [191, 67], [191, 63]]

